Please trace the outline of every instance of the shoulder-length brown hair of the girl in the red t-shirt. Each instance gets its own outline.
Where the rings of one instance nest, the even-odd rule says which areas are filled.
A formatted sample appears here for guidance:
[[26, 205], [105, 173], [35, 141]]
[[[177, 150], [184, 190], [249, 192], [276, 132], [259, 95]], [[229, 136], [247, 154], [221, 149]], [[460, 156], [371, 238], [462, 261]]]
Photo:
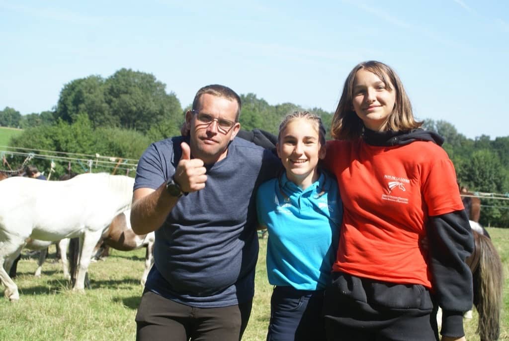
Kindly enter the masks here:
[[400, 130], [416, 129], [422, 125], [422, 122], [415, 120], [410, 99], [408, 98], [400, 77], [398, 77], [394, 70], [384, 63], [367, 61], [357, 64], [345, 81], [343, 93], [341, 94], [340, 102], [337, 104], [337, 109], [332, 118], [330, 127], [331, 135], [334, 139], [355, 140], [362, 135], [364, 130], [364, 124], [355, 113], [352, 102], [355, 74], [360, 69], [373, 72], [385, 83], [389, 91], [393, 90], [396, 92], [394, 109], [387, 118], [385, 130], [398, 132]]

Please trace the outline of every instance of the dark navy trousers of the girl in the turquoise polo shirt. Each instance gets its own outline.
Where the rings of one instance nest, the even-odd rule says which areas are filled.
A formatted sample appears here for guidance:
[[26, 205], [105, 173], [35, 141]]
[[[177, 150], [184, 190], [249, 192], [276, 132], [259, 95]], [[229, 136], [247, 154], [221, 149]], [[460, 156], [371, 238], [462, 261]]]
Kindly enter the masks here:
[[323, 290], [276, 286], [270, 299], [267, 341], [325, 340]]

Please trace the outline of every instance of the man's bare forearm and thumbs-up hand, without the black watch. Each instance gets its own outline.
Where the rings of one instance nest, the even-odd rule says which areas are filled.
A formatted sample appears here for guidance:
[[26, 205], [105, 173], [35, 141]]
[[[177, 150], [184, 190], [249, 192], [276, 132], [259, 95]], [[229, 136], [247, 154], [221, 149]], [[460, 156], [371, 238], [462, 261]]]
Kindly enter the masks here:
[[[182, 157], [175, 170], [174, 181], [183, 192], [196, 192], [205, 188], [206, 168], [200, 159], [192, 159], [189, 145], [182, 142]], [[134, 190], [131, 208], [131, 227], [136, 234], [146, 234], [162, 226], [179, 198], [166, 191], [166, 183], [157, 189]]]

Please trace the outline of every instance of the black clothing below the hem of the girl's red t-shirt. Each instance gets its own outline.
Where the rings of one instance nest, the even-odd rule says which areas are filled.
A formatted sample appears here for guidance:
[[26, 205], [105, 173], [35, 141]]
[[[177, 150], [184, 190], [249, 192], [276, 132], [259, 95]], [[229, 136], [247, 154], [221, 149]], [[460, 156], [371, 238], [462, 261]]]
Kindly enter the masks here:
[[422, 285], [334, 273], [325, 290], [327, 340], [435, 341], [437, 308]]

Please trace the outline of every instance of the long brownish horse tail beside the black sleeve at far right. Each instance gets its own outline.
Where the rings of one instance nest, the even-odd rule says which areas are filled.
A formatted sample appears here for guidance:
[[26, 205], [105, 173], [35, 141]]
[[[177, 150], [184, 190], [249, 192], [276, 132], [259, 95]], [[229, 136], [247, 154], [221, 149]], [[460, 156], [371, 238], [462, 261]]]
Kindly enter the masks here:
[[491, 240], [479, 234], [479, 268], [474, 272], [474, 304], [479, 313], [477, 334], [483, 341], [496, 340], [500, 334], [502, 309], [502, 261]]

